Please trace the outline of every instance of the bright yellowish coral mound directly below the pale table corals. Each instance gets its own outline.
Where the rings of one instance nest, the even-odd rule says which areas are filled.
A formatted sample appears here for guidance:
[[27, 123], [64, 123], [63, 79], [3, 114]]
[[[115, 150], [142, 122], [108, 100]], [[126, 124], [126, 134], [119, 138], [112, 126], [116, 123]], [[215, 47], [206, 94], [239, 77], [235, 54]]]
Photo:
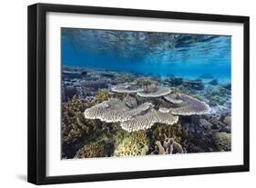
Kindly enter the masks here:
[[121, 143], [118, 144], [116, 156], [136, 156], [146, 155], [148, 152], [148, 137], [146, 132], [132, 132], [126, 136]]

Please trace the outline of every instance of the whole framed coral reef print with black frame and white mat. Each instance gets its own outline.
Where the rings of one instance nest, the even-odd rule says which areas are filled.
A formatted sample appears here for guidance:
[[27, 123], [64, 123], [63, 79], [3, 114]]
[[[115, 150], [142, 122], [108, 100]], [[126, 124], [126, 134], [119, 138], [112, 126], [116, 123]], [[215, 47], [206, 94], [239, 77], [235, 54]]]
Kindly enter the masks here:
[[249, 171], [249, 17], [28, 6], [28, 182]]

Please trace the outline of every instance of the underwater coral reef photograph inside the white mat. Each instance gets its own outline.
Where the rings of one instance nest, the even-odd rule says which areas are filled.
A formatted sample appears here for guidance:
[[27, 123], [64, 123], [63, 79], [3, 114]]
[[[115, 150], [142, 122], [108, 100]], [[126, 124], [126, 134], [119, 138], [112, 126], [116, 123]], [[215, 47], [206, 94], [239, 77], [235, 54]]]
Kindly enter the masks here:
[[61, 29], [61, 158], [231, 151], [231, 36]]

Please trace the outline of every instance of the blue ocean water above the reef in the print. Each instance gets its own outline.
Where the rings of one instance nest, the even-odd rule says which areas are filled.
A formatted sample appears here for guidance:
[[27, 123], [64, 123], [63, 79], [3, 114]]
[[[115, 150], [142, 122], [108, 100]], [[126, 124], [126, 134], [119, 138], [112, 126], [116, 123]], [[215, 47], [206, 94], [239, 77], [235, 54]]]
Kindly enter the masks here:
[[231, 36], [62, 28], [63, 65], [230, 81]]

